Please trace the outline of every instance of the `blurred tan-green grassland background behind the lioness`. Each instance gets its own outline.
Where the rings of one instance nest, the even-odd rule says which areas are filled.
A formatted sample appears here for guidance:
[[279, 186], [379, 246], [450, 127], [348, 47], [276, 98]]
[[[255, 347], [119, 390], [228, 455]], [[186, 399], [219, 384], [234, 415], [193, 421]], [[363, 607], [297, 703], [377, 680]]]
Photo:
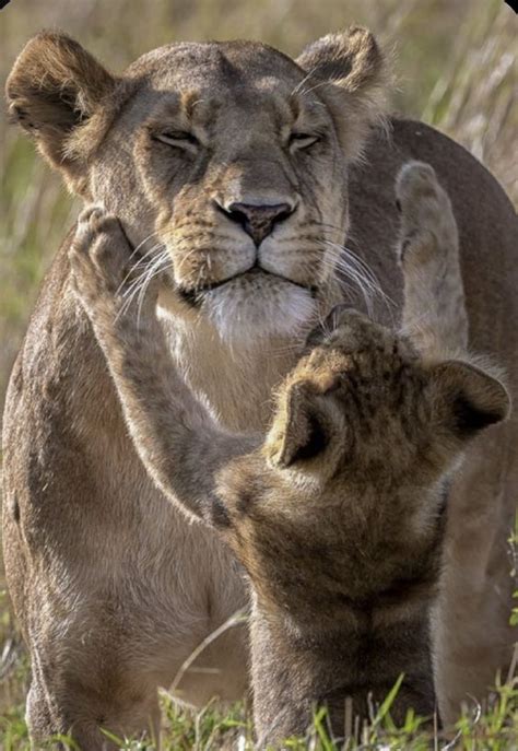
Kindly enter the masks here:
[[[297, 55], [352, 23], [370, 27], [393, 51], [393, 109], [462, 143], [516, 206], [518, 21], [503, 0], [11, 0], [0, 11], [0, 83], [3, 90], [17, 52], [43, 27], [64, 30], [120, 71], [179, 39], [256, 38]], [[42, 275], [79, 204], [21, 131], [7, 125], [5, 107], [0, 128], [1, 408]], [[0, 716], [24, 693], [23, 660], [11, 635], [3, 599]]]

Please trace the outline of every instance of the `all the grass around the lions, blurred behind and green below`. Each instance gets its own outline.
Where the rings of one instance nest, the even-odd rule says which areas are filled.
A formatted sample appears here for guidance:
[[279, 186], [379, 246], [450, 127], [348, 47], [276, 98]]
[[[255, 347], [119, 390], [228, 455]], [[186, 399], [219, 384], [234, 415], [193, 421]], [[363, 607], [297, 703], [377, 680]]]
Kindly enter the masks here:
[[[3, 89], [16, 54], [43, 27], [63, 28], [117, 71], [140, 54], [179, 39], [257, 38], [296, 55], [311, 39], [352, 23], [369, 26], [393, 52], [393, 108], [467, 146], [518, 203], [518, 22], [503, 0], [12, 0], [0, 11], [0, 82]], [[1, 404], [40, 279], [79, 204], [30, 142], [8, 127], [4, 108], [0, 122]], [[3, 578], [0, 589], [0, 751], [23, 751], [28, 748], [23, 721], [28, 666]], [[467, 707], [448, 740], [431, 742], [413, 716], [396, 730], [389, 696], [373, 714], [372, 726], [358, 730], [346, 748], [518, 749], [518, 691], [513, 677], [504, 679], [488, 707]], [[222, 716], [209, 706], [195, 715], [164, 695], [163, 708], [166, 749], [251, 748], [244, 707]], [[320, 714], [305, 740], [286, 746], [338, 748]]]

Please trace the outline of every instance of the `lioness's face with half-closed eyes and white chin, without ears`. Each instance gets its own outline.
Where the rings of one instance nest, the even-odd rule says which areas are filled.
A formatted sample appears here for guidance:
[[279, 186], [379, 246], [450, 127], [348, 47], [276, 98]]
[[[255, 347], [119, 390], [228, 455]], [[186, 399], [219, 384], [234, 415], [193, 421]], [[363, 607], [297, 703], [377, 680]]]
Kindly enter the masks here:
[[304, 78], [260, 45], [174, 47], [151, 73], [149, 106], [130, 107], [108, 139], [122, 148], [131, 119], [128, 169], [155, 255], [166, 249], [181, 298], [231, 340], [307, 322], [344, 242], [346, 160]]

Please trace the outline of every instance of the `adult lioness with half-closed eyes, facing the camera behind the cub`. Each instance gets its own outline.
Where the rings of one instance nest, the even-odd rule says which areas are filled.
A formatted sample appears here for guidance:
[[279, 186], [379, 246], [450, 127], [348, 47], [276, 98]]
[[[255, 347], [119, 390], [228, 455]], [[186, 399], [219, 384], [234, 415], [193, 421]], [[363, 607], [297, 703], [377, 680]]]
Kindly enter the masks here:
[[[120, 77], [66, 35], [43, 33], [14, 64], [13, 118], [70, 189], [121, 219], [151, 259], [143, 280], [166, 272], [160, 310], [170, 352], [229, 430], [268, 424], [271, 390], [304, 331], [343, 300], [339, 272], [357, 270], [341, 249], [349, 227], [350, 247], [395, 301], [380, 320], [398, 315], [393, 180], [412, 157], [434, 165], [452, 199], [471, 345], [515, 371], [513, 208], [439, 133], [393, 119], [387, 136], [377, 125], [386, 80], [382, 55], [358, 28], [296, 61], [257, 43], [169, 45]], [[73, 727], [84, 749], [98, 749], [98, 725], [130, 735], [157, 721], [156, 688], [246, 605], [246, 591], [224, 547], [165, 503], [134, 451], [70, 286], [71, 237], [8, 391], [3, 544], [31, 652], [32, 736]], [[446, 719], [509, 658], [515, 431], [509, 421], [474, 445], [451, 490], [436, 631]], [[227, 631], [185, 674], [180, 695], [198, 705], [240, 696], [245, 665], [242, 632]]]

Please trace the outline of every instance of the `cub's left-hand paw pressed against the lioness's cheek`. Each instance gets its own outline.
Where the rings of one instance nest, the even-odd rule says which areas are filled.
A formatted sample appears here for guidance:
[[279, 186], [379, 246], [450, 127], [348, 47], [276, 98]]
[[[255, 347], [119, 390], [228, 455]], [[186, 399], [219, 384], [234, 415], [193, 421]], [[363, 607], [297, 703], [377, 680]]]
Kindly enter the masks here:
[[103, 207], [85, 209], [80, 214], [69, 258], [75, 292], [90, 318], [98, 318], [103, 313], [113, 318], [130, 308], [128, 296], [137, 285], [132, 271], [139, 257], [116, 216]]

